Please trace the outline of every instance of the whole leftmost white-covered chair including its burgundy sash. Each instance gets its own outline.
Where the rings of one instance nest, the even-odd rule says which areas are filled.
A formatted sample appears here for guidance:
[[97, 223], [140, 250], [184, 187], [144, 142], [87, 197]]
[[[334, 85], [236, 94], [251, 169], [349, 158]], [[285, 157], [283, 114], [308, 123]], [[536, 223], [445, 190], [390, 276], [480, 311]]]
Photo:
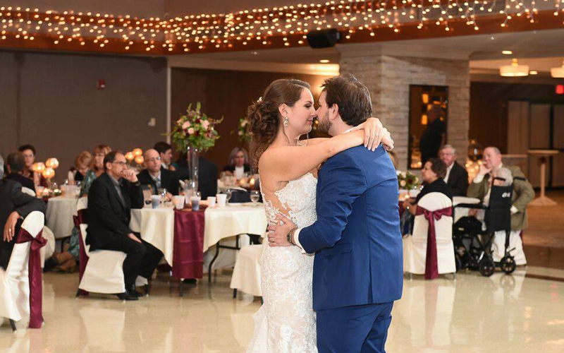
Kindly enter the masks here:
[[42, 269], [39, 249], [47, 243], [42, 237], [45, 216], [33, 211], [20, 227], [8, 268], [0, 268], [0, 316], [8, 318], [12, 330], [16, 321], [30, 316], [30, 328], [41, 328]]

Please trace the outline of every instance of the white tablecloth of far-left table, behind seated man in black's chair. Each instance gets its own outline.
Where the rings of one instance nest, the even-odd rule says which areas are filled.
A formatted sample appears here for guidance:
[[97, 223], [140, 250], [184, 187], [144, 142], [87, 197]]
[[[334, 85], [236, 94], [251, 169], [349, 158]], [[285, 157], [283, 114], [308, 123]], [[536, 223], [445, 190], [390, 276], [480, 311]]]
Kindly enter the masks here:
[[47, 227], [55, 234], [55, 239], [70, 237], [73, 232], [73, 215], [76, 214], [78, 199], [57, 196], [47, 203]]

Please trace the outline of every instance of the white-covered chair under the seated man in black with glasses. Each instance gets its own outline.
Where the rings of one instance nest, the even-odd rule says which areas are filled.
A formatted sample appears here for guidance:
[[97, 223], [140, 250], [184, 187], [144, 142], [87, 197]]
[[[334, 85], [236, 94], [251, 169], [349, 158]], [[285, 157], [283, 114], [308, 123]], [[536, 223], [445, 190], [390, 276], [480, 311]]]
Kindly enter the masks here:
[[[80, 284], [77, 297], [87, 292], [118, 294], [125, 292], [123, 261], [125, 253], [112, 250], [90, 251], [86, 244], [88, 198], [82, 197], [77, 204], [77, 217], [80, 222]], [[137, 277], [135, 285], [147, 285], [147, 280]], [[82, 289], [83, 292], [80, 292]]]

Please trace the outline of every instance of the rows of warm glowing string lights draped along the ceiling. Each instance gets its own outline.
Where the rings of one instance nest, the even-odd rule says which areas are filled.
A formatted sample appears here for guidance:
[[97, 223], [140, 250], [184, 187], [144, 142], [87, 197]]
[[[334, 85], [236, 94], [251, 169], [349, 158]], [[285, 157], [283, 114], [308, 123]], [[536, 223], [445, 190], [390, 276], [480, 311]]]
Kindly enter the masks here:
[[[283, 0], [281, 0], [283, 1]], [[357, 35], [388, 28], [401, 32], [406, 25], [439, 26], [448, 32], [455, 23], [466, 23], [479, 31], [481, 16], [497, 13], [501, 27], [513, 18], [535, 22], [538, 0], [332, 0], [324, 4], [298, 4], [274, 8], [252, 8], [234, 13], [212, 13], [161, 18], [137, 18], [109, 13], [39, 11], [39, 8], [0, 7], [0, 40], [13, 37], [34, 40], [48, 37], [53, 44], [95, 44], [98, 48], [152, 52], [190, 52], [228, 49], [234, 44], [253, 47], [305, 45], [311, 30], [337, 28], [345, 42]], [[561, 0], [553, 2], [554, 16], [564, 14]], [[79, 44], [80, 43], [80, 44]]]

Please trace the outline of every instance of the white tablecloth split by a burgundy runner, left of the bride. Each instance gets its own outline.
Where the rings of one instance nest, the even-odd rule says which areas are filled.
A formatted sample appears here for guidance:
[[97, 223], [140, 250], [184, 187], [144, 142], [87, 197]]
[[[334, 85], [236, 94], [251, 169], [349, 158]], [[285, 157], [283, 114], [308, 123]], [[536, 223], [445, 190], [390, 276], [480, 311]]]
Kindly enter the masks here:
[[[207, 208], [204, 226], [204, 252], [221, 239], [238, 234], [264, 235], [266, 215], [262, 205], [229, 205], [223, 208]], [[140, 232], [143, 240], [164, 253], [164, 258], [172, 265], [174, 243], [173, 208], [149, 207], [131, 210], [129, 227]]]

